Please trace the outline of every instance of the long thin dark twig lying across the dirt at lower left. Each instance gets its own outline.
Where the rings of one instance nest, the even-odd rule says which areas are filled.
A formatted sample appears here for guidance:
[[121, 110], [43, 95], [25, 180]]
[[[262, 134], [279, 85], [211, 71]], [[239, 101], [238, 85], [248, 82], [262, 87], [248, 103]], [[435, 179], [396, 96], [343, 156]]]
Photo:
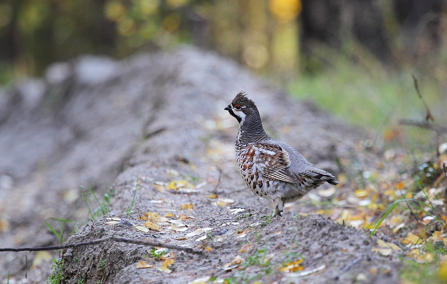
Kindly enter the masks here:
[[193, 253], [193, 254], [202, 254], [202, 251], [195, 250], [195, 249], [189, 248], [189, 247], [183, 247], [183, 246], [148, 241], [148, 240], [123, 238], [123, 237], [117, 237], [117, 236], [105, 237], [105, 238], [100, 238], [100, 239], [95, 239], [95, 240], [90, 240], [90, 241], [85, 241], [85, 242], [78, 242], [78, 243], [64, 244], [64, 245], [41, 246], [41, 247], [21, 247], [21, 248], [0, 248], [0, 252], [1, 251], [18, 252], [18, 251], [56, 250], [56, 249], [64, 249], [64, 248], [70, 248], [70, 247], [94, 245], [94, 244], [99, 244], [99, 243], [103, 243], [103, 242], [107, 242], [107, 241], [132, 243], [132, 244], [147, 245], [147, 246], [153, 246], [153, 247], [158, 246], [158, 247], [164, 247], [164, 248], [168, 248], [168, 249], [181, 250], [181, 251]]

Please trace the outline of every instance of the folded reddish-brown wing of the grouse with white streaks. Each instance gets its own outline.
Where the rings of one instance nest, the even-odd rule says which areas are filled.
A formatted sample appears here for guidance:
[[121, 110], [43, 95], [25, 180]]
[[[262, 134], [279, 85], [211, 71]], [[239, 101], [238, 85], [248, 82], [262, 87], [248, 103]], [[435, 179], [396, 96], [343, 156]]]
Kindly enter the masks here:
[[289, 153], [277, 144], [255, 143], [253, 163], [262, 175], [271, 180], [300, 183], [298, 177], [290, 170]]

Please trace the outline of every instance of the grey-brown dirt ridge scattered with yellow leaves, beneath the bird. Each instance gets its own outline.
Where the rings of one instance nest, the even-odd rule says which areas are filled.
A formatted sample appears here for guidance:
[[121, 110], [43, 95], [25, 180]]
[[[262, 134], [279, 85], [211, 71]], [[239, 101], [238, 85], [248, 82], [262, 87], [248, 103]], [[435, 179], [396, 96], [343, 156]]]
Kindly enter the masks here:
[[[66, 77], [51, 73], [64, 68]], [[238, 173], [237, 121], [224, 107], [245, 90], [269, 134], [335, 175], [351, 170], [339, 161], [356, 155], [352, 145], [365, 138], [362, 131], [189, 47], [123, 61], [83, 57], [53, 65], [33, 84], [32, 91], [3, 90], [0, 105], [17, 110], [0, 119], [0, 154], [7, 158], [0, 174], [12, 180], [0, 187], [1, 247], [57, 243], [43, 220], [86, 222], [83, 184], [99, 188], [98, 197], [113, 189], [111, 212], [67, 243], [115, 235], [203, 249], [201, 255], [171, 250], [161, 260], [150, 247], [124, 243], [67, 249], [66, 283], [398, 283], [398, 256], [372, 252], [378, 237], [367, 231], [306, 215], [314, 211], [301, 205], [309, 197], [286, 207], [282, 218], [268, 217], [271, 204]], [[34, 101], [27, 92], [38, 93], [29, 95]], [[336, 190], [352, 189], [341, 183]], [[168, 220], [154, 221], [157, 230], [138, 230], [147, 212]], [[45, 283], [58, 255], [40, 255], [39, 262], [37, 255], [0, 253], [0, 279], [9, 272], [25, 282], [26, 273], [28, 283]], [[163, 258], [174, 260], [170, 273], [159, 270]], [[149, 268], [137, 268], [140, 261]]]

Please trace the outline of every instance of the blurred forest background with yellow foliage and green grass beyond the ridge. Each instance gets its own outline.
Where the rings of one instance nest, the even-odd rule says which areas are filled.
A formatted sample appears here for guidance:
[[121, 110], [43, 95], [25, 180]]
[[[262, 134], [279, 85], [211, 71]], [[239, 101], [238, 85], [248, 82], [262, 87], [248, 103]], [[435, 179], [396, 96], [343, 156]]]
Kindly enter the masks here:
[[447, 122], [446, 37], [446, 0], [1, 0], [0, 84], [188, 43], [393, 140], [396, 119], [425, 115], [412, 74]]

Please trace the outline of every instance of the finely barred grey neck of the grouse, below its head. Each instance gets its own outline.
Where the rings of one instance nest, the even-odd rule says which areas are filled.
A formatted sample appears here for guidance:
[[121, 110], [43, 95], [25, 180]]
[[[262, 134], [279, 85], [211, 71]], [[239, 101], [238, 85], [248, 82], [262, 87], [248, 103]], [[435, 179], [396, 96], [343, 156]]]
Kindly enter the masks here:
[[239, 123], [239, 131], [237, 132], [237, 143], [249, 144], [269, 139], [262, 126], [259, 113], [255, 113], [246, 117]]

